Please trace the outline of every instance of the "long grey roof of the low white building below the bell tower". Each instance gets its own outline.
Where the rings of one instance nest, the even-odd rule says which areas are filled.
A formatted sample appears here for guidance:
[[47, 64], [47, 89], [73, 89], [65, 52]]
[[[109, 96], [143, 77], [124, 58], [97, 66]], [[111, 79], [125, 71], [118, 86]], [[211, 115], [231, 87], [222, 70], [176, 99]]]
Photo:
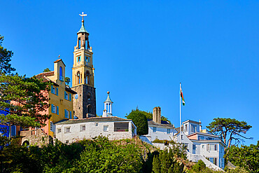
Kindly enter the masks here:
[[118, 118], [117, 116], [112, 117], [92, 117], [83, 119], [71, 119], [71, 120], [60, 120], [55, 123], [56, 125], [68, 125], [76, 123], [90, 123], [90, 122], [113, 122], [113, 121], [132, 121], [130, 119]]

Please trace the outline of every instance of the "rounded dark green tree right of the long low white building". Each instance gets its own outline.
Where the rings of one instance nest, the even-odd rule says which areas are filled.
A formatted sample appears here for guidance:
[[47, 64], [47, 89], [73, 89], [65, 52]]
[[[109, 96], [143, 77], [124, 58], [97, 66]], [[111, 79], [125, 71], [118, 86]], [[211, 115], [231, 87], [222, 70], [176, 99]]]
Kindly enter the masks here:
[[137, 134], [148, 134], [148, 120], [146, 119], [145, 114], [139, 111], [139, 109], [132, 110], [132, 112], [127, 116], [127, 119], [131, 119], [134, 125], [137, 126]]

